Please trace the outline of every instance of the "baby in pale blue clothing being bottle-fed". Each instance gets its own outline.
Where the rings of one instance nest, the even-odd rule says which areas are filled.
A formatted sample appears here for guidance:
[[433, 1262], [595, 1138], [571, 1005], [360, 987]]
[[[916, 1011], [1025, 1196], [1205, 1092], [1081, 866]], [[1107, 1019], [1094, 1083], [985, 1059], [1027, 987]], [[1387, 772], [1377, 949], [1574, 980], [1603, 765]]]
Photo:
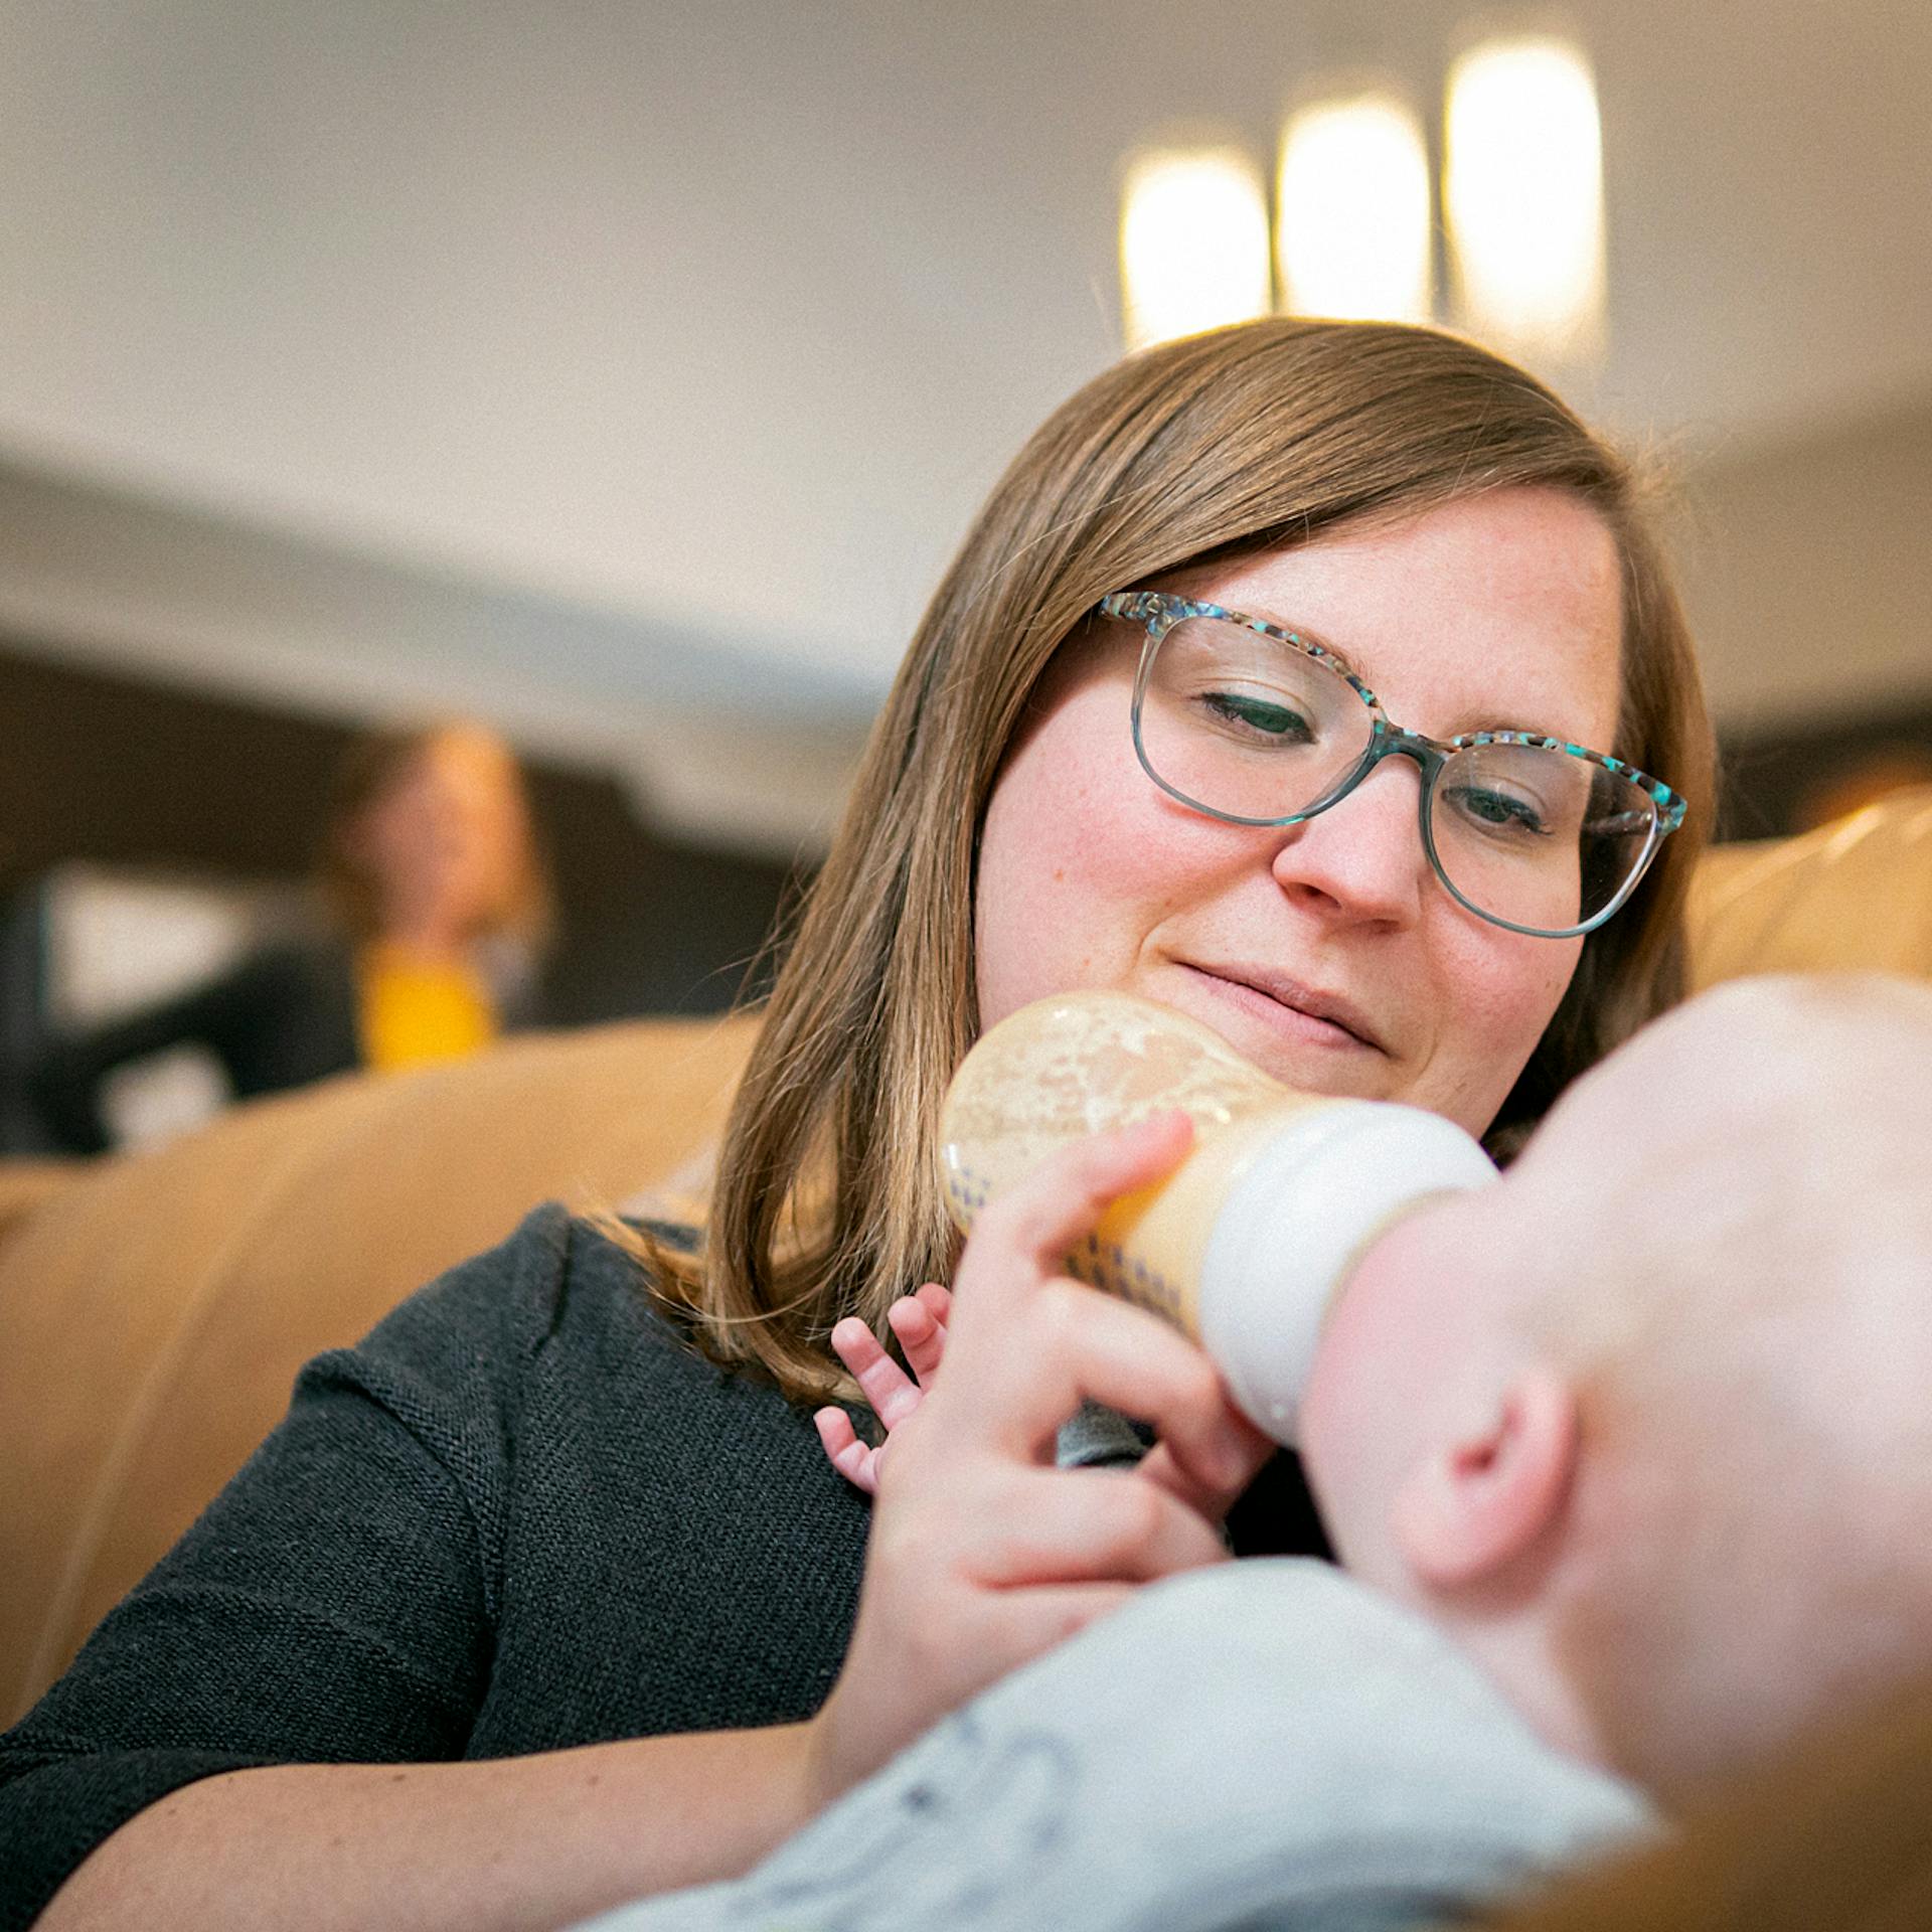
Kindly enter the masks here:
[[1140, 1592], [748, 1878], [607, 1928], [1412, 1926], [1932, 1662], [1932, 987], [1650, 1026], [1349, 1279], [1349, 1575]]

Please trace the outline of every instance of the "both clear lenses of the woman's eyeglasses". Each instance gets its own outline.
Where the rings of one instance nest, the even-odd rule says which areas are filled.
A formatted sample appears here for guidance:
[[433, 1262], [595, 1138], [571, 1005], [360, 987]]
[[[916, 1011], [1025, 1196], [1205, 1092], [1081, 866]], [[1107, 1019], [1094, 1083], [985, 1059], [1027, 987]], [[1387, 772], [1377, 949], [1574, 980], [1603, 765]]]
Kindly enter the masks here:
[[[1362, 761], [1374, 715], [1335, 668], [1244, 624], [1182, 618], [1153, 653], [1140, 701], [1148, 769], [1186, 804], [1279, 821], [1331, 798]], [[1478, 912], [1536, 931], [1609, 906], [1650, 848], [1650, 794], [1542, 746], [1453, 752], [1430, 831], [1447, 885]]]

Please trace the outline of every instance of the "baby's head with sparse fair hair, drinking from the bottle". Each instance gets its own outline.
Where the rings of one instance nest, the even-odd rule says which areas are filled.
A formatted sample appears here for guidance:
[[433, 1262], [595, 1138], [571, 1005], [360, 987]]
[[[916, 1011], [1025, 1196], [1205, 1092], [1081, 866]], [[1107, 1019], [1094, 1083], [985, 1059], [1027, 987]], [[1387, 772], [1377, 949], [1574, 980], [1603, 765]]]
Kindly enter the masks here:
[[1316, 1358], [1341, 1555], [1677, 1799], [1932, 1667], [1932, 987], [1754, 980], [1395, 1229]]

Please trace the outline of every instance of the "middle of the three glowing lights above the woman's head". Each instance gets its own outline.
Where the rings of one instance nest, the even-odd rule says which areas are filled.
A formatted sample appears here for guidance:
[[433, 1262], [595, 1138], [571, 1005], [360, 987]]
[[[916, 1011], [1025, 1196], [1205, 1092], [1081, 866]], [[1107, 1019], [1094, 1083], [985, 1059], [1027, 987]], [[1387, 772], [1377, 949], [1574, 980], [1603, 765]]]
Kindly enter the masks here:
[[1430, 156], [1387, 89], [1314, 100], [1281, 129], [1275, 265], [1296, 315], [1430, 317]]

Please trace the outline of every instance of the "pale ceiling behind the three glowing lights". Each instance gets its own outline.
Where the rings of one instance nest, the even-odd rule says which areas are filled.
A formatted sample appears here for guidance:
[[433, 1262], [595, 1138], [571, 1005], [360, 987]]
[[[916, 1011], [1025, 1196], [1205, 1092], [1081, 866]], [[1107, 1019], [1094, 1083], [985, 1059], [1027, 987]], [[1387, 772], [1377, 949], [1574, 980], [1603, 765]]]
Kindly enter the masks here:
[[[307, 647], [211, 593], [170, 643], [145, 593], [62, 614], [89, 545], [43, 543], [0, 554], [0, 618], [328, 703], [471, 665], [585, 746], [759, 665], [862, 715], [993, 475], [1117, 354], [1122, 151], [1208, 120], [1265, 153], [1320, 64], [1428, 93], [1466, 12], [0, 0], [10, 475], [475, 607], [357, 653], [348, 589]], [[1578, 400], [1694, 466], [1932, 394], [1932, 6], [1567, 17], [1611, 220]]]

